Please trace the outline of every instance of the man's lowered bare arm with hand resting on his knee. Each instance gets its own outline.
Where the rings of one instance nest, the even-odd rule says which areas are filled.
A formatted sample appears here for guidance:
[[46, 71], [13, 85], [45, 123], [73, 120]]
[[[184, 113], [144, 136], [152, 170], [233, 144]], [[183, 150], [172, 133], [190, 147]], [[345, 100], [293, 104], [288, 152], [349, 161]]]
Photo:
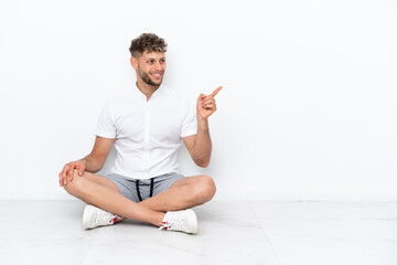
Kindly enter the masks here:
[[58, 174], [60, 186], [67, 186], [67, 182], [73, 180], [73, 171], [75, 169], [78, 170], [79, 176], [82, 176], [85, 170], [93, 173], [98, 172], [104, 167], [105, 160], [109, 155], [114, 141], [115, 139], [97, 136], [94, 148], [88, 156], [79, 160], [68, 162], [64, 166]]

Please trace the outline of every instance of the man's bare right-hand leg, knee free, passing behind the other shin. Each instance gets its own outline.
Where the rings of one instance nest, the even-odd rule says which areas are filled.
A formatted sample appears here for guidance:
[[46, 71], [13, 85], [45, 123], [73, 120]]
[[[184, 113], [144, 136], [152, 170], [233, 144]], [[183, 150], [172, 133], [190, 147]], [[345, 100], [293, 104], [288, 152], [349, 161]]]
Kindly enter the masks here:
[[165, 190], [139, 203], [158, 212], [176, 211], [201, 205], [216, 192], [214, 180], [208, 176], [186, 177]]

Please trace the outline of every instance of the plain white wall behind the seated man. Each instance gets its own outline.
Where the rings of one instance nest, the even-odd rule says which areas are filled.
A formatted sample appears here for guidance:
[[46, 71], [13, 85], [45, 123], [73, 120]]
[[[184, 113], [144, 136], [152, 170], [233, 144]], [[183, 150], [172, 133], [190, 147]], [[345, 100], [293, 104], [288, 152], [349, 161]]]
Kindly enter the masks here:
[[[0, 1], [0, 199], [69, 199], [130, 41], [169, 44], [167, 85], [218, 85], [206, 173], [227, 200], [397, 200], [397, 3]], [[111, 156], [110, 156], [111, 158]], [[109, 159], [108, 165], [111, 163]], [[106, 170], [105, 170], [106, 171]]]

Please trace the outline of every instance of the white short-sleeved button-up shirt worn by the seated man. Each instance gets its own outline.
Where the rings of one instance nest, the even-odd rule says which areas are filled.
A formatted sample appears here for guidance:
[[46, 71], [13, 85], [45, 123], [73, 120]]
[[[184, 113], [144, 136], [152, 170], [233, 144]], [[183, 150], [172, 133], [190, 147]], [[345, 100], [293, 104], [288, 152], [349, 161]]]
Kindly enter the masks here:
[[108, 99], [95, 134], [115, 139], [111, 172], [150, 179], [178, 172], [181, 139], [196, 132], [194, 104], [162, 85], [149, 100], [136, 86]]

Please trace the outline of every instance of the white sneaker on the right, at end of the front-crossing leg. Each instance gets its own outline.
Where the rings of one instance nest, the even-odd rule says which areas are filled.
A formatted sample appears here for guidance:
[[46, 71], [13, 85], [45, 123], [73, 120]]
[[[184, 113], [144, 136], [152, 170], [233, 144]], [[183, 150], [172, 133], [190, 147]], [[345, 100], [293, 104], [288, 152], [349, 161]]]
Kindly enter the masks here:
[[189, 234], [197, 233], [197, 218], [192, 209], [167, 212], [160, 230], [182, 231]]

